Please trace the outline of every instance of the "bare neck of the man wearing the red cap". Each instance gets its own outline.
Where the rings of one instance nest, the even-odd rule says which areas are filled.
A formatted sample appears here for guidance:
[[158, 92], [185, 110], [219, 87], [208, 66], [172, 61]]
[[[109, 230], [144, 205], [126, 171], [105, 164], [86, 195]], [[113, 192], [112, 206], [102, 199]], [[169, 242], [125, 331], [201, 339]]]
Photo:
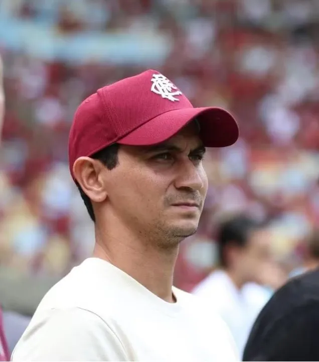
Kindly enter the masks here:
[[172, 286], [179, 248], [160, 250], [123, 231], [114, 235], [96, 229], [93, 256], [112, 263], [159, 298], [175, 302]]

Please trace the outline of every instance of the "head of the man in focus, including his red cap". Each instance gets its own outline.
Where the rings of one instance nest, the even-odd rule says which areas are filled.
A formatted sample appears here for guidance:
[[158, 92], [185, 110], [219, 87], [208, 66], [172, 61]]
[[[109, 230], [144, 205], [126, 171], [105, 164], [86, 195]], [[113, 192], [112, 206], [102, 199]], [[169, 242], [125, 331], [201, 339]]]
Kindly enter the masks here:
[[228, 112], [193, 108], [167, 78], [148, 70], [99, 89], [79, 106], [70, 171], [96, 222], [178, 242], [197, 229], [207, 192], [205, 146], [237, 138]]

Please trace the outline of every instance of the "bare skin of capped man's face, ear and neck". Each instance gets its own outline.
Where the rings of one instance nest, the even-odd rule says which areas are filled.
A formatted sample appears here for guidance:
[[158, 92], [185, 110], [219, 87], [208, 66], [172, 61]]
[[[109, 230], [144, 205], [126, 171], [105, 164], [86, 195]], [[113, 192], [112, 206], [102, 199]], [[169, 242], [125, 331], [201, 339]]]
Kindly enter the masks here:
[[160, 145], [121, 146], [112, 170], [89, 157], [73, 166], [96, 216], [94, 256], [168, 302], [174, 302], [179, 244], [196, 232], [203, 210], [208, 188], [204, 153], [191, 123]]

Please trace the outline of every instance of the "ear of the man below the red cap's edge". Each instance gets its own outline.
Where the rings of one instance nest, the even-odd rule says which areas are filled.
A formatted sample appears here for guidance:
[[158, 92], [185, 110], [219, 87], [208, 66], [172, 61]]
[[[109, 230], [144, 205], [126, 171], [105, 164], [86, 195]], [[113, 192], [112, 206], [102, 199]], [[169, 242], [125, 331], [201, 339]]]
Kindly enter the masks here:
[[99, 203], [106, 199], [107, 192], [103, 179], [105, 166], [90, 157], [79, 157], [73, 164], [73, 175], [83, 192], [91, 201]]

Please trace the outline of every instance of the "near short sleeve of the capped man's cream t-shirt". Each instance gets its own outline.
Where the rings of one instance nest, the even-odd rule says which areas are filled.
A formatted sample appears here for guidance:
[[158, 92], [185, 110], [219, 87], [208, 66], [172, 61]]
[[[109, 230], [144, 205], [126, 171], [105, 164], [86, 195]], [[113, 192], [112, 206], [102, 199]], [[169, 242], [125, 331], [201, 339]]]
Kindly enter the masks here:
[[18, 361], [124, 361], [128, 357], [112, 329], [80, 308], [54, 310], [32, 324], [12, 354]]

